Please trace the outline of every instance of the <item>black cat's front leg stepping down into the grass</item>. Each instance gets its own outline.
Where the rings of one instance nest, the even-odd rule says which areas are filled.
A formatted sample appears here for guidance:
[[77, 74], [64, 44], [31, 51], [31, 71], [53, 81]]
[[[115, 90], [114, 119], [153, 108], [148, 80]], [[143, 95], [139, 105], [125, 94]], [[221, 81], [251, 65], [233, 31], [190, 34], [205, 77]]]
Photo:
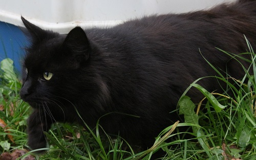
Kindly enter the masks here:
[[35, 109], [28, 118], [28, 145], [31, 149], [46, 147], [44, 131], [51, 127], [52, 120], [43, 110]]

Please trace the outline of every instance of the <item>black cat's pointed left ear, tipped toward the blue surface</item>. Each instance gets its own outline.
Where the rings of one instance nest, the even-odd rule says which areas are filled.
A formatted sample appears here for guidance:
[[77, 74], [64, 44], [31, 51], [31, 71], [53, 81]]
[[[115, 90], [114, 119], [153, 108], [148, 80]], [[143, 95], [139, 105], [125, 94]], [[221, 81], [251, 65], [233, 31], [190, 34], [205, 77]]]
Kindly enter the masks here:
[[22, 16], [22, 21], [27, 30], [23, 30], [25, 34], [31, 36], [34, 42], [39, 42], [46, 37], [46, 31], [31, 24], [27, 19]]

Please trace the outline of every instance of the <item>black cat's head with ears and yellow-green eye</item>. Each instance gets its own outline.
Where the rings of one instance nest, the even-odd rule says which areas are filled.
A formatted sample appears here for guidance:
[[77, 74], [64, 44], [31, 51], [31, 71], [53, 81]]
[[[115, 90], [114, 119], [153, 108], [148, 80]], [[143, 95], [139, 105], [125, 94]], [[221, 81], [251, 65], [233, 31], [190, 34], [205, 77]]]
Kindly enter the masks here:
[[81, 68], [88, 65], [91, 52], [86, 33], [76, 27], [61, 35], [22, 20], [31, 44], [23, 62], [20, 97], [33, 107], [79, 97], [84, 84], [78, 79], [81, 72], [86, 72]]

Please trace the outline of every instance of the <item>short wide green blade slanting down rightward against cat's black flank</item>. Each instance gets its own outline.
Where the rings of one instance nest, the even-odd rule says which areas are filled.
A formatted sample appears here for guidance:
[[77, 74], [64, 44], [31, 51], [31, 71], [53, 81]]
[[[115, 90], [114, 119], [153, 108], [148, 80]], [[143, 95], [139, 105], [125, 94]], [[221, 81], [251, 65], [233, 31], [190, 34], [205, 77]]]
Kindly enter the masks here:
[[220, 112], [221, 110], [223, 110], [226, 107], [224, 105], [221, 105], [218, 102], [218, 100], [211, 93], [209, 93], [206, 89], [204, 89], [201, 85], [199, 85], [199, 84], [191, 84], [191, 86], [194, 86], [198, 90], [200, 90], [200, 92], [208, 99], [208, 101], [210, 102], [212, 107], [214, 107], [214, 109], [217, 112]]

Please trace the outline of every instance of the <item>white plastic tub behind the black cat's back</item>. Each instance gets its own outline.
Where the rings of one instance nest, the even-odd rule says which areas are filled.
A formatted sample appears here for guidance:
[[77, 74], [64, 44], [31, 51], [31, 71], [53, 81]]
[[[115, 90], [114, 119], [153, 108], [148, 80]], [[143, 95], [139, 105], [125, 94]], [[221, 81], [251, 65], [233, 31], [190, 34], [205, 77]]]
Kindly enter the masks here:
[[234, 0], [1, 0], [0, 21], [22, 26], [20, 15], [44, 29], [110, 26], [143, 15], [181, 13]]

